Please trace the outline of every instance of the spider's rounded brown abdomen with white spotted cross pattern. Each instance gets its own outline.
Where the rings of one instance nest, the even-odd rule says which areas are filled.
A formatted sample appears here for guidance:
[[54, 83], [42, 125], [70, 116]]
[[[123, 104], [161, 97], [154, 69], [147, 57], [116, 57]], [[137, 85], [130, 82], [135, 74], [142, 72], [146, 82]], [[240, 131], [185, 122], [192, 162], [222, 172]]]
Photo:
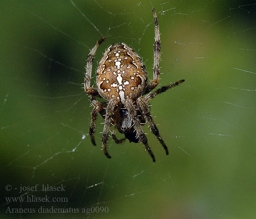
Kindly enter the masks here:
[[129, 46], [116, 43], [110, 46], [97, 70], [99, 94], [106, 100], [135, 100], [143, 94], [147, 85], [147, 71], [139, 57]]

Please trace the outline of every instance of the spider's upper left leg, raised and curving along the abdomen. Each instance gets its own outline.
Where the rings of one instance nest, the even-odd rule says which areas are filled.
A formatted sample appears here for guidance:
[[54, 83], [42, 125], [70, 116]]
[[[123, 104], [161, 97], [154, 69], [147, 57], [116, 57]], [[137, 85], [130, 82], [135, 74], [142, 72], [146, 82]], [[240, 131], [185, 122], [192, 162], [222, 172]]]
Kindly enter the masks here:
[[91, 71], [92, 71], [92, 67], [93, 67], [93, 56], [96, 53], [96, 50], [98, 48], [98, 46], [106, 39], [106, 37], [101, 38], [96, 45], [93, 47], [93, 49], [90, 51], [88, 57], [87, 57], [87, 65], [86, 65], [86, 74], [85, 74], [85, 78], [84, 78], [84, 91], [86, 93], [88, 93], [89, 95], [93, 95], [93, 96], [99, 96], [99, 93], [97, 91], [97, 89], [90, 87], [91, 84]]

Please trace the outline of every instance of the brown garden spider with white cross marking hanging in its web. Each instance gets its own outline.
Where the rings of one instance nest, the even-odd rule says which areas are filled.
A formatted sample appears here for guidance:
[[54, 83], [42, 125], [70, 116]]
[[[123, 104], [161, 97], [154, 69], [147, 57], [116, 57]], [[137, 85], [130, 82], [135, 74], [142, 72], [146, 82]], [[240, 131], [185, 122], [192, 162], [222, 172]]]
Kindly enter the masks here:
[[[116, 43], [110, 46], [103, 54], [97, 69], [96, 89], [90, 86], [93, 58], [98, 46], [106, 37], [103, 37], [96, 43], [87, 57], [84, 90], [90, 95], [93, 106], [89, 134], [91, 142], [93, 145], [96, 145], [94, 132], [99, 113], [105, 120], [101, 140], [102, 149], [108, 158], [111, 158], [107, 150], [109, 130], [110, 126], [116, 124], [112, 131], [112, 138], [116, 143], [122, 143], [125, 139], [135, 143], [141, 142], [151, 155], [153, 162], [155, 162], [154, 154], [148, 146], [147, 137], [142, 128], [146, 121], [151, 132], [165, 149], [166, 155], [169, 154], [167, 146], [160, 137], [158, 128], [150, 115], [148, 102], [159, 93], [175, 87], [184, 80], [176, 81], [151, 92], [157, 87], [160, 79], [159, 61], [161, 47], [157, 14], [155, 9], [152, 11], [155, 22], [154, 70], [153, 80], [149, 84], [147, 82], [147, 70], [142, 59], [124, 43]], [[143, 95], [146, 96], [143, 97]], [[108, 103], [99, 102], [95, 97], [101, 97], [107, 100]], [[123, 133], [125, 138], [117, 139], [116, 129]]]

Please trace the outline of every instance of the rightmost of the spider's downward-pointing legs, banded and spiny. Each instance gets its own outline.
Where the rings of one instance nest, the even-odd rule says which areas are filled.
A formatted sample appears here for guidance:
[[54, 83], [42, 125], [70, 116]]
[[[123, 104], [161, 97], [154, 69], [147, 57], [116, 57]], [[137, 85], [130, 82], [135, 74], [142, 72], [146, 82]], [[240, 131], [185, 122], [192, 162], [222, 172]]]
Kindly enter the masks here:
[[149, 108], [148, 108], [147, 102], [144, 100], [144, 97], [139, 97], [136, 100], [136, 102], [137, 102], [137, 105], [138, 105], [138, 108], [139, 108], [140, 112], [142, 113], [142, 115], [144, 115], [146, 117], [146, 119], [148, 121], [148, 124], [150, 126], [151, 132], [157, 137], [158, 141], [161, 143], [161, 145], [165, 149], [166, 155], [168, 155], [169, 152], [168, 152], [167, 146], [165, 145], [165, 142], [163, 141], [163, 139], [159, 135], [158, 128], [155, 125], [155, 123], [154, 123], [154, 121], [153, 121], [153, 119], [150, 115]]

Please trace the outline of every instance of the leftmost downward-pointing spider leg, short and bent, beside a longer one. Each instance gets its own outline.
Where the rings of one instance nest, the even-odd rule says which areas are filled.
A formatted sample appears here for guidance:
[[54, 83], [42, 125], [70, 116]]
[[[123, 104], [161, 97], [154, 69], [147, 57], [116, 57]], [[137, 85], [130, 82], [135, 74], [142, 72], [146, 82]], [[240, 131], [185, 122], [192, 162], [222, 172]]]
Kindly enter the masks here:
[[106, 114], [106, 110], [104, 109], [106, 107], [106, 103], [101, 103], [95, 100], [93, 97], [91, 97], [91, 104], [93, 105], [93, 111], [91, 112], [91, 125], [89, 128], [89, 135], [91, 137], [91, 142], [93, 143], [94, 146], [96, 146], [95, 139], [94, 139], [96, 119], [97, 119], [98, 112], [101, 115]]

